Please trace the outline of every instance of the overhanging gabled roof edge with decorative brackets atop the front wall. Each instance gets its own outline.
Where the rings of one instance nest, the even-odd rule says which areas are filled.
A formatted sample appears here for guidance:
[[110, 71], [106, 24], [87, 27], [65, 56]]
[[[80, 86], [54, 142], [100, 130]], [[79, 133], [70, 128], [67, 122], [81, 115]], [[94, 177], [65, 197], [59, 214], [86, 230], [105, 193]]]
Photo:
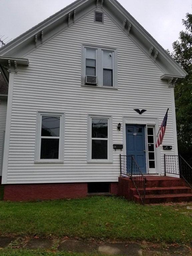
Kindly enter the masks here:
[[156, 63], [164, 73], [161, 79], [175, 80], [187, 75], [117, 0], [77, 0], [0, 48], [0, 56], [22, 58], [97, 8], [101, 8]]

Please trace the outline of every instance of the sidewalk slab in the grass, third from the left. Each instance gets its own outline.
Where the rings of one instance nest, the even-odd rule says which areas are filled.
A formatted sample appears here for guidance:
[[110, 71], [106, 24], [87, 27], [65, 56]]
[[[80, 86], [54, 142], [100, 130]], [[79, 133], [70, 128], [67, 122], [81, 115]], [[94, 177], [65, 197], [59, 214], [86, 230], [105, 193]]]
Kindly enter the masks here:
[[97, 243], [80, 240], [64, 240], [58, 247], [58, 251], [70, 252], [94, 252], [97, 250]]

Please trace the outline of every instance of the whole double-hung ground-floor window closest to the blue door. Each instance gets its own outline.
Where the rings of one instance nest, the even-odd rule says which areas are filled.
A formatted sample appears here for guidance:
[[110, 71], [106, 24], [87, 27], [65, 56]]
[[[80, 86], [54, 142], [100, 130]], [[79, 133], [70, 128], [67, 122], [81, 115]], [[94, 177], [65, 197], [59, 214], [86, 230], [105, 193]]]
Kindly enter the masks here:
[[88, 161], [112, 161], [112, 117], [89, 116]]

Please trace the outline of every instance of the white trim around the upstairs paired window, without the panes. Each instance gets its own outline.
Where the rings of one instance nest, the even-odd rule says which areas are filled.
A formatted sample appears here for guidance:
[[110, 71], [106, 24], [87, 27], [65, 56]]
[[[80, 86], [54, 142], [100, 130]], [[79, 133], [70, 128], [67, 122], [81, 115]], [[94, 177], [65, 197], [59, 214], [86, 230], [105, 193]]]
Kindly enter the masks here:
[[[86, 48], [96, 50], [96, 76], [97, 76], [97, 85], [87, 85], [85, 84], [85, 75], [86, 75]], [[112, 51], [113, 52], [113, 86], [103, 86], [103, 51]], [[82, 86], [92, 87], [92, 88], [105, 88], [105, 89], [117, 89], [118, 88], [118, 63], [117, 63], [117, 49], [110, 47], [101, 47], [95, 45], [82, 45]]]

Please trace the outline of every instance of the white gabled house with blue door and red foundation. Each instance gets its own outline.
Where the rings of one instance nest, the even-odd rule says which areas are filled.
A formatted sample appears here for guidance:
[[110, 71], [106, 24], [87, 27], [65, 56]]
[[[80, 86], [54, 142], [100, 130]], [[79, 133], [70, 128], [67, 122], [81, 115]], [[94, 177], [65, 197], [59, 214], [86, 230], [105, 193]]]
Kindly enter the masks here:
[[0, 48], [0, 71], [5, 200], [116, 194], [120, 154], [155, 175], [163, 145], [178, 154], [174, 86], [187, 73], [116, 0], [77, 0], [52, 15]]

